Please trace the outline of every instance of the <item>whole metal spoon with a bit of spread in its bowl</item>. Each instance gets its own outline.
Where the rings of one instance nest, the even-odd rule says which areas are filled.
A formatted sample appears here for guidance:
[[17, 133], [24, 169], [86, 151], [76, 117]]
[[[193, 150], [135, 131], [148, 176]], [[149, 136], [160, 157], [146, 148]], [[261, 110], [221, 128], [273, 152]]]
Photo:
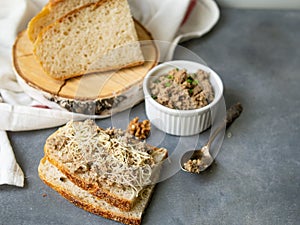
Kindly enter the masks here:
[[180, 166], [183, 171], [190, 173], [200, 173], [209, 167], [214, 161], [209, 153], [210, 146], [217, 135], [225, 127], [229, 127], [233, 121], [240, 116], [243, 107], [240, 103], [231, 106], [226, 112], [226, 119], [220, 127], [211, 135], [206, 145], [199, 150], [190, 150], [183, 154], [180, 161]]

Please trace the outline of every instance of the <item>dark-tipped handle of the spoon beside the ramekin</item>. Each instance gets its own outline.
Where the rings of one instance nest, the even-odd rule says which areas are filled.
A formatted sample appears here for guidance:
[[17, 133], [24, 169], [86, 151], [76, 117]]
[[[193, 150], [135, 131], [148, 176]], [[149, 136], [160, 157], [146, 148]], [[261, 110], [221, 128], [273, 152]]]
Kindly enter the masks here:
[[221, 130], [223, 130], [224, 127], [228, 128], [233, 123], [233, 121], [241, 115], [242, 111], [243, 111], [243, 106], [239, 102], [232, 105], [226, 111], [226, 119], [225, 119], [224, 123], [222, 123], [222, 125], [212, 134], [212, 136], [208, 140], [208, 142], [207, 142], [208, 147], [210, 147], [211, 143], [215, 140], [215, 138], [217, 137], [219, 132]]

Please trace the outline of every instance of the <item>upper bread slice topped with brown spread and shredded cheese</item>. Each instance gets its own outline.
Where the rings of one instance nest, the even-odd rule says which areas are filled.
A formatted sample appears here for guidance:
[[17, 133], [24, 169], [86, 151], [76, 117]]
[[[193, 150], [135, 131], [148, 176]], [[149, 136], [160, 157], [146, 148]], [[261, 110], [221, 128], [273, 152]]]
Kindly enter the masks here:
[[44, 150], [45, 157], [77, 186], [129, 211], [139, 192], [155, 183], [167, 150], [128, 141], [118, 132], [104, 131], [91, 120], [70, 121], [47, 139]]

